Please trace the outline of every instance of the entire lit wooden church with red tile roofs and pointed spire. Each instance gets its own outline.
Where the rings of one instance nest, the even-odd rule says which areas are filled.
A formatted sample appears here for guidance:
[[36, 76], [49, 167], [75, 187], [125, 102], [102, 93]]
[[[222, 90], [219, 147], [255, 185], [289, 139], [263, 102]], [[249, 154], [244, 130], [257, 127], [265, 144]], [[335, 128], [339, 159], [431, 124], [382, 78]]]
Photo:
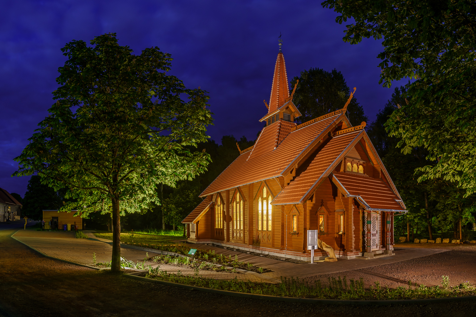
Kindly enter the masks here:
[[406, 207], [365, 122], [353, 127], [345, 115], [355, 88], [344, 108], [301, 125], [295, 90], [289, 96], [279, 49], [268, 113], [259, 120], [267, 125], [200, 194], [182, 221], [188, 241], [309, 260], [307, 230], [318, 230], [337, 258], [391, 254], [393, 219]]

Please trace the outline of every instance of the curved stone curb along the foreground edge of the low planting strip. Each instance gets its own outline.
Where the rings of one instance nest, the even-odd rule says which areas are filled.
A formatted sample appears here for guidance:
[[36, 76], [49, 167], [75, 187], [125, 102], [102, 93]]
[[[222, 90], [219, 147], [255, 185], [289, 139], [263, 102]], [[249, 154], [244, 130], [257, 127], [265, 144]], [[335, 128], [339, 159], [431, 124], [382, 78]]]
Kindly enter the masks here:
[[445, 297], [445, 298], [426, 298], [426, 299], [389, 299], [389, 300], [355, 300], [355, 299], [321, 299], [321, 298], [298, 298], [298, 297], [286, 297], [286, 296], [274, 296], [274, 295], [259, 295], [250, 293], [233, 292], [230, 290], [205, 288], [200, 286], [192, 286], [174, 282], [162, 281], [159, 279], [149, 279], [141, 276], [137, 276], [138, 273], [125, 274], [130, 279], [139, 279], [143, 281], [156, 282], [169, 286], [176, 286], [181, 288], [195, 289], [207, 293], [216, 293], [221, 295], [228, 295], [234, 297], [255, 298], [261, 300], [274, 300], [288, 303], [307, 303], [307, 304], [331, 304], [331, 305], [401, 305], [401, 304], [429, 304], [435, 302], [450, 302], [450, 301], [465, 301], [476, 299], [476, 295], [462, 296], [462, 297]]

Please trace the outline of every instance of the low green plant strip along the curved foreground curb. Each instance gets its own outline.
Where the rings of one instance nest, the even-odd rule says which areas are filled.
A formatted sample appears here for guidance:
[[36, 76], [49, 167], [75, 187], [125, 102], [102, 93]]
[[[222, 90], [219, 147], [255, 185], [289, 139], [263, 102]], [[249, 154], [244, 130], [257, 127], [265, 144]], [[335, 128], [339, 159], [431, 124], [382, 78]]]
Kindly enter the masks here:
[[149, 269], [147, 278], [160, 279], [174, 283], [192, 285], [205, 288], [222, 289], [234, 292], [274, 295], [299, 298], [332, 298], [332, 299], [417, 299], [417, 298], [445, 298], [474, 295], [476, 288], [470, 283], [461, 283], [452, 288], [426, 287], [425, 285], [413, 286], [409, 282], [408, 287], [383, 288], [380, 283], [375, 286], [364, 287], [364, 280], [350, 279], [346, 277], [328, 278], [327, 283], [316, 280], [313, 284], [299, 278], [281, 278], [279, 284], [257, 283], [251, 281], [207, 279], [197, 276], [186, 276], [181, 273], [173, 274], [159, 268]]

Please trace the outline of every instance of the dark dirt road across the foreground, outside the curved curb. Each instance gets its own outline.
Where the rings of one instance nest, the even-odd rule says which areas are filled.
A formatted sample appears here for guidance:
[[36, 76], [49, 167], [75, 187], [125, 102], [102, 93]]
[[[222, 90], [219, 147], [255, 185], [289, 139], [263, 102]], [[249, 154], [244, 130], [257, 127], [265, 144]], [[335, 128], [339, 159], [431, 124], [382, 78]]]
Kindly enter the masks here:
[[46, 258], [0, 231], [0, 316], [474, 316], [476, 301], [393, 307], [288, 304], [191, 291]]

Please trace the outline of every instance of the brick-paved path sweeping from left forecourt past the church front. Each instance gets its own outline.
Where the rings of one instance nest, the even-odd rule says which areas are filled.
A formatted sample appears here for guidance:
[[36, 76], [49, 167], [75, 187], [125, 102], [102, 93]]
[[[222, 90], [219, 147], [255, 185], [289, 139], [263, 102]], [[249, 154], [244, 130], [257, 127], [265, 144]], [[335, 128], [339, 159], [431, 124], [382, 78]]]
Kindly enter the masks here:
[[[80, 264], [91, 265], [93, 263], [93, 252], [96, 253], [97, 262], [109, 262], [112, 255], [112, 246], [107, 243], [110, 240], [96, 238], [90, 231], [84, 231], [90, 238], [89, 239], [75, 239], [74, 232], [50, 232], [50, 231], [31, 231], [20, 230], [17, 231], [13, 237], [20, 242], [26, 244], [30, 248], [37, 250], [43, 254], [57, 259], [64, 259]], [[440, 249], [423, 249], [423, 248], [409, 248], [406, 250], [399, 250], [395, 255], [384, 258], [377, 258], [372, 260], [339, 259], [337, 262], [325, 262], [319, 261], [315, 264], [310, 263], [291, 263], [277, 259], [270, 259], [266, 257], [259, 257], [247, 253], [242, 253], [230, 249], [222, 249], [205, 244], [193, 244], [192, 248], [202, 250], [215, 250], [218, 254], [224, 254], [227, 257], [231, 255], [232, 258], [235, 255], [238, 256], [239, 261], [249, 262], [255, 266], [263, 267], [272, 270], [268, 273], [250, 273], [250, 274], [233, 274], [223, 273], [208, 270], [200, 270], [199, 275], [213, 279], [238, 279], [251, 280], [251, 281], [278, 281], [281, 277], [309, 277], [321, 274], [331, 274], [347, 270], [363, 269], [372, 266], [394, 263], [404, 261], [407, 259], [414, 259], [431, 255], [446, 250]], [[121, 248], [121, 256], [128, 260], [140, 261], [146, 257], [147, 250], [136, 250], [128, 247]], [[152, 250], [149, 250], [149, 257], [152, 256]], [[157, 266], [156, 263], [149, 263], [153, 266]], [[193, 269], [184, 267], [177, 267], [167, 264], [160, 265], [160, 269], [168, 272], [182, 272], [185, 275], [194, 275]]]

